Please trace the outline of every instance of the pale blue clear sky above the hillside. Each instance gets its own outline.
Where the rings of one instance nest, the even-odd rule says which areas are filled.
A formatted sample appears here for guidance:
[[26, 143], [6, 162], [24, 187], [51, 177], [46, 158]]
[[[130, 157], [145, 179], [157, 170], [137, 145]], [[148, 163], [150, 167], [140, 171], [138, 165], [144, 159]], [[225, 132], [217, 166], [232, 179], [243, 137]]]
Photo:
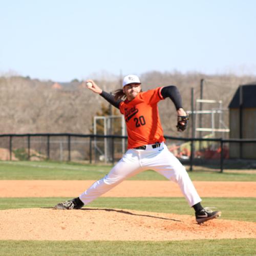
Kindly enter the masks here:
[[256, 75], [256, 1], [0, 0], [0, 74]]

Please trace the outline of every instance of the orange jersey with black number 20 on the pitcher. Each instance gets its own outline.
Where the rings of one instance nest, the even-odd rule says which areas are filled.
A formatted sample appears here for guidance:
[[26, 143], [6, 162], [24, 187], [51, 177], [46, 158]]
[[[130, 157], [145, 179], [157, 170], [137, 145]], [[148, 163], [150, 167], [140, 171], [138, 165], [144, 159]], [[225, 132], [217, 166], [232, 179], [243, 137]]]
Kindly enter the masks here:
[[124, 115], [128, 148], [165, 141], [157, 103], [163, 99], [162, 87], [139, 93], [132, 101], [125, 100], [119, 105]]

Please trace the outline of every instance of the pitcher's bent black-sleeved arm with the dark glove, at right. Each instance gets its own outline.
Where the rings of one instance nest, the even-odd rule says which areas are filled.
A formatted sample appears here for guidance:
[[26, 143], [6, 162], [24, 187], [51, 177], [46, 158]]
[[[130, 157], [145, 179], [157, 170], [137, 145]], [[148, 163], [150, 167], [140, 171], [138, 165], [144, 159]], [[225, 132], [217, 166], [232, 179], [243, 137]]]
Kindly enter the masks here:
[[163, 87], [161, 90], [161, 95], [164, 99], [169, 97], [174, 102], [175, 108], [177, 110], [177, 116], [178, 116], [177, 125], [176, 125], [177, 131], [179, 132], [185, 131], [187, 127], [188, 116], [187, 116], [187, 113], [182, 108], [182, 100], [181, 100], [181, 95], [178, 88], [176, 86]]

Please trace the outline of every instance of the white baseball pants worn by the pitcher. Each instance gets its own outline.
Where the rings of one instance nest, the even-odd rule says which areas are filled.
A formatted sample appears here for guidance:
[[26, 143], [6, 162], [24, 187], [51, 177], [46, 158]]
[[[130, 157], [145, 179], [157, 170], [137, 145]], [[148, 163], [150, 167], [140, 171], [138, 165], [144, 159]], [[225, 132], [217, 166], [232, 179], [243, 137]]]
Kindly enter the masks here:
[[155, 170], [168, 180], [178, 183], [190, 207], [201, 202], [185, 167], [163, 142], [156, 148], [147, 145], [145, 150], [128, 150], [108, 175], [92, 184], [79, 198], [87, 205], [123, 180], [147, 169]]

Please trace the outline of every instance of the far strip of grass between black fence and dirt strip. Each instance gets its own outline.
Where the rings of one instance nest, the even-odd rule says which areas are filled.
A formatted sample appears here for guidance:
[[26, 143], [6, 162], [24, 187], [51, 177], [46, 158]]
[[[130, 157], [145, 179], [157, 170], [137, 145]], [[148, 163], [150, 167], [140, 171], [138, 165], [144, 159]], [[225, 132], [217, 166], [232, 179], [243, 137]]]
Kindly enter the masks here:
[[[0, 161], [0, 179], [2, 180], [98, 180], [111, 170], [111, 166], [30, 161]], [[192, 180], [197, 181], [256, 181], [256, 172], [219, 173], [188, 172]], [[166, 180], [163, 176], [147, 170], [131, 180]]]

